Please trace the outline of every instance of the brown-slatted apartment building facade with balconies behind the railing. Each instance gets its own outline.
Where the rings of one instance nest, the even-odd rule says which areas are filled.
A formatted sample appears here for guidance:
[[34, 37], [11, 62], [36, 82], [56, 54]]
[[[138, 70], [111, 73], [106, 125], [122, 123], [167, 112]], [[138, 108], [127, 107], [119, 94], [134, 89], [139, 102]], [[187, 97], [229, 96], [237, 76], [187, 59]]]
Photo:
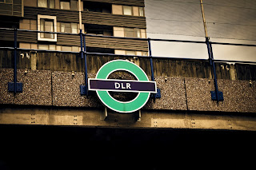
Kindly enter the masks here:
[[[79, 3], [73, 0], [3, 0], [0, 2], [2, 28], [18, 28], [18, 47], [80, 51]], [[82, 33], [88, 52], [147, 55], [146, 41], [120, 39], [146, 38], [144, 1], [81, 2]], [[28, 32], [38, 30], [64, 34]], [[1, 31], [1, 45], [13, 46], [14, 31]]]

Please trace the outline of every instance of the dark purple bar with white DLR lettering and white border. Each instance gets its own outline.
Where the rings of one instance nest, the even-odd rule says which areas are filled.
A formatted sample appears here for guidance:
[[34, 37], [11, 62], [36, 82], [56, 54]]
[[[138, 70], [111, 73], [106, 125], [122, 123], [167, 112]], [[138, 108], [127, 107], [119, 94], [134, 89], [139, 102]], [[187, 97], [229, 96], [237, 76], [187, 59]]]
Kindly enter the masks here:
[[89, 90], [157, 93], [155, 81], [130, 81], [90, 78], [88, 79], [88, 82]]

